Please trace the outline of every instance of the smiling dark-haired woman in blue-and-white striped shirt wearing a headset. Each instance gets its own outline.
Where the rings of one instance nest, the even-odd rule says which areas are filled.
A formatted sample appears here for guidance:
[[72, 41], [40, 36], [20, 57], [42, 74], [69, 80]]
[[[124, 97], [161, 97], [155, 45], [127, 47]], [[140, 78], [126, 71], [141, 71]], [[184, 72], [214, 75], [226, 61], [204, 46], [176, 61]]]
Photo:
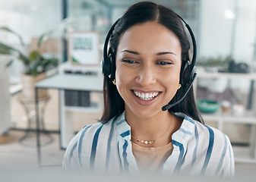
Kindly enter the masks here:
[[[103, 61], [103, 117], [77, 133], [63, 168], [232, 176], [229, 138], [203, 124], [189, 89], [194, 76], [184, 80], [190, 45], [179, 16], [153, 2], [139, 2], [112, 29], [110, 58]], [[176, 104], [162, 111], [170, 101]]]

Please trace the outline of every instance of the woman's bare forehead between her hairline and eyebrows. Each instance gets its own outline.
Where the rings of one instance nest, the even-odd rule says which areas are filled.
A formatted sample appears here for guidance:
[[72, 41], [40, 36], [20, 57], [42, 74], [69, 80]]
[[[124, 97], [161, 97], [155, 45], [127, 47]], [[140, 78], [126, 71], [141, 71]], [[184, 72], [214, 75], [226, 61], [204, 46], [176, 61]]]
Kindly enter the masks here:
[[[143, 24], [136, 24], [122, 34], [119, 41], [119, 49], [175, 49], [181, 52], [181, 45], [178, 37], [172, 30], [157, 22], [148, 21]], [[166, 50], [167, 51], [167, 50]]]

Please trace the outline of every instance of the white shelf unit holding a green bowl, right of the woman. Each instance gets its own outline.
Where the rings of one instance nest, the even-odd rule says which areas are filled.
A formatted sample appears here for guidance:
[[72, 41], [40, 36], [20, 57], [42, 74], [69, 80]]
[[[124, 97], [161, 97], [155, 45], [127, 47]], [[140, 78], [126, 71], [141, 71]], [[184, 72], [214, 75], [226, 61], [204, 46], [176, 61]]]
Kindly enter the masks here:
[[[256, 80], [256, 74], [235, 74], [235, 73], [209, 73], [199, 67], [198, 78], [194, 83], [195, 94], [198, 93], [198, 82], [201, 80], [214, 80], [214, 79], [226, 79], [226, 80]], [[209, 82], [210, 83], [210, 82]], [[254, 88], [252, 89], [254, 93]], [[248, 89], [248, 93], [250, 89]], [[197, 96], [197, 95], [196, 95]], [[254, 96], [255, 97], [255, 96]], [[248, 102], [248, 101], [247, 101]], [[242, 115], [235, 115], [232, 111], [224, 113], [219, 109], [213, 114], [202, 114], [205, 123], [209, 121], [216, 122], [216, 127], [219, 130], [223, 130], [224, 123], [237, 123], [237, 124], [250, 124], [250, 145], [245, 146], [233, 146], [235, 162], [254, 162], [256, 163], [256, 105], [253, 101], [252, 108], [250, 110], [245, 109]]]

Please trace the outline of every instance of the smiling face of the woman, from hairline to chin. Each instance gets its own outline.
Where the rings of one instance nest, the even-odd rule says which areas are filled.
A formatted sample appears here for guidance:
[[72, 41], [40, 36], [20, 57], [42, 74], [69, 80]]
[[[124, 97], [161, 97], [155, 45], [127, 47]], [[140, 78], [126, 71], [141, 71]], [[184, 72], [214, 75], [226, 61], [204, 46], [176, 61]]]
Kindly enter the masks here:
[[181, 45], [161, 24], [146, 22], [130, 27], [116, 53], [116, 86], [125, 111], [137, 118], [163, 114], [179, 86]]

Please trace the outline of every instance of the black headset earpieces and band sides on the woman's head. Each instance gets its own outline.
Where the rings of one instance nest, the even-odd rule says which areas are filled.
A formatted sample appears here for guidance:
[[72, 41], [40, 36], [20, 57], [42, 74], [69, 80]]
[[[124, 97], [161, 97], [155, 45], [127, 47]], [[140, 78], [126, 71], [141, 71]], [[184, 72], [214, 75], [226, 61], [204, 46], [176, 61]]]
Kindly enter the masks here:
[[[193, 58], [190, 62], [189, 60], [182, 63], [182, 68], [180, 72], [180, 83], [182, 85], [188, 85], [192, 84], [194, 81], [194, 78], [196, 77], [196, 67], [195, 67], [195, 61], [197, 57], [197, 45], [194, 39], [194, 33], [191, 30], [191, 27], [185, 22], [185, 20], [182, 19], [178, 14], [177, 16], [184, 22], [185, 27], [187, 27], [188, 32], [191, 35], [192, 44], [193, 44]], [[119, 20], [115, 21], [115, 24], [112, 25], [112, 27], [109, 30], [109, 33], [106, 36], [106, 40], [104, 43], [103, 48], [103, 60], [102, 60], [102, 71], [104, 76], [109, 77], [111, 79], [115, 78], [115, 56], [112, 54], [108, 54], [108, 44], [110, 36], [115, 29], [115, 25], [119, 22]], [[191, 86], [190, 86], [191, 87]], [[190, 89], [189, 87], [189, 89]]]

